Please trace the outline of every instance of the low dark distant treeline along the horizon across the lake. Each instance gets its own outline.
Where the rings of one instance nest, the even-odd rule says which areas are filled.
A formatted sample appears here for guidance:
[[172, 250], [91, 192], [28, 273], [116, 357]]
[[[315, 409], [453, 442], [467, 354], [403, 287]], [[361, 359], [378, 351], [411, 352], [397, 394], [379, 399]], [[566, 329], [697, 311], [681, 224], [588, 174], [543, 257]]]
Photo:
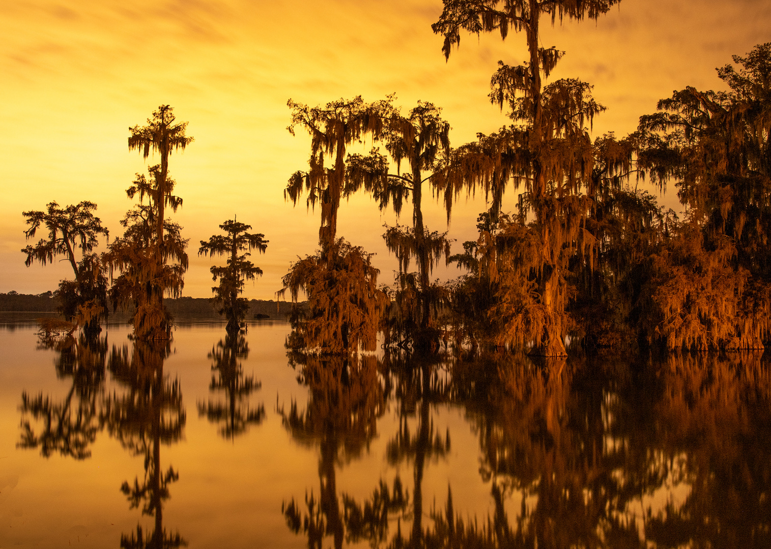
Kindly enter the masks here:
[[[163, 304], [172, 315], [176, 314], [217, 314], [211, 300], [204, 297], [180, 297], [177, 299], [165, 299]], [[0, 311], [8, 312], [49, 312], [56, 313], [59, 300], [52, 292], [40, 294], [0, 293]], [[284, 319], [291, 313], [291, 303], [274, 300], [250, 300], [247, 318], [255, 315], [266, 315], [262, 318]]]

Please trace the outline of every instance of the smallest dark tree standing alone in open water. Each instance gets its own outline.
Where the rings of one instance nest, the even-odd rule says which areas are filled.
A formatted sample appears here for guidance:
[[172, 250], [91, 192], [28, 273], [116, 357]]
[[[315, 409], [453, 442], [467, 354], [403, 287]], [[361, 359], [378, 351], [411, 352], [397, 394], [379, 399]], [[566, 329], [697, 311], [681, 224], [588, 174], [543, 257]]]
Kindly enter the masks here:
[[224, 314], [227, 318], [228, 332], [237, 332], [241, 329], [241, 323], [246, 318], [249, 310], [249, 301], [245, 297], [239, 297], [244, 291], [244, 283], [254, 280], [262, 275], [262, 269], [255, 267], [247, 256], [248, 251], [239, 255], [244, 250], [257, 249], [264, 253], [268, 247], [268, 240], [264, 240], [264, 234], [247, 233], [251, 225], [238, 223], [235, 219], [228, 219], [220, 226], [227, 235], [212, 235], [209, 242], [200, 241], [198, 255], [218, 256], [227, 255], [227, 266], [211, 267], [212, 280], [220, 279], [220, 285], [214, 286], [214, 303], [219, 306], [217, 313]]

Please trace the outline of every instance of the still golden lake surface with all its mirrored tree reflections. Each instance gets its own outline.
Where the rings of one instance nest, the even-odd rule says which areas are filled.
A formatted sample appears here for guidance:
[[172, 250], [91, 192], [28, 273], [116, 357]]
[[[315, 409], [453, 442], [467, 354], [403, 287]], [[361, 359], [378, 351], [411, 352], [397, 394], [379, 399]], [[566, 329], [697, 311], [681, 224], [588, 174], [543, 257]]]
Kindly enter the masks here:
[[0, 315], [5, 547], [771, 547], [763, 357], [287, 357]]

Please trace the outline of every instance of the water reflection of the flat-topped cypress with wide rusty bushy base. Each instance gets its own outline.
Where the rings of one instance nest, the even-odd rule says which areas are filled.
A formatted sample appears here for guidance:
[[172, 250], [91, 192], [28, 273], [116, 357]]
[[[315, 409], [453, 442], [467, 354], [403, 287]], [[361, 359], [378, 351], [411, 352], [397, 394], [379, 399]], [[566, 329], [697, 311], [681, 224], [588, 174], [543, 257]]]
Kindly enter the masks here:
[[406, 496], [399, 480], [393, 490], [381, 482], [373, 495], [374, 507], [357, 506], [352, 497], [343, 494], [341, 512], [335, 466], [359, 457], [377, 434], [377, 420], [385, 412], [388, 393], [379, 360], [371, 356], [292, 354], [290, 364], [298, 369], [298, 382], [308, 387], [308, 404], [305, 410], [291, 403], [289, 410], [278, 411], [295, 440], [318, 444], [319, 490], [318, 499], [313, 490], [306, 494], [305, 511], [294, 498], [284, 501], [282, 512], [289, 528], [295, 533], [302, 531], [308, 537], [308, 547], [322, 547], [326, 536], [332, 536], [334, 547], [342, 547], [344, 539], [357, 541], [365, 531], [378, 535], [387, 530], [389, 512], [403, 507]]

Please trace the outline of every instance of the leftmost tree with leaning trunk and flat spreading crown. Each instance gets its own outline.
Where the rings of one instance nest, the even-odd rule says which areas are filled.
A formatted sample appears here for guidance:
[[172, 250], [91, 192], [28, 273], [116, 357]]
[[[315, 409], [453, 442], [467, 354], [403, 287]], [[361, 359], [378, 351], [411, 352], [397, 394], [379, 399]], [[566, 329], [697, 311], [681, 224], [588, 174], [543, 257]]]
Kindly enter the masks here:
[[[27, 266], [39, 261], [42, 265], [52, 262], [56, 256], [65, 256], [75, 273], [75, 280], [59, 283], [59, 313], [66, 320], [75, 321], [86, 333], [99, 333], [99, 319], [107, 316], [107, 277], [94, 247], [99, 244], [99, 235], [108, 236], [101, 220], [93, 215], [96, 204], [83, 201], [76, 205], [59, 207], [52, 202], [45, 212], [30, 210], [22, 213], [29, 229], [25, 231], [31, 239], [41, 226], [49, 231], [48, 239], [40, 239], [35, 246], [27, 246]], [[76, 250], [80, 249], [80, 261]]]

